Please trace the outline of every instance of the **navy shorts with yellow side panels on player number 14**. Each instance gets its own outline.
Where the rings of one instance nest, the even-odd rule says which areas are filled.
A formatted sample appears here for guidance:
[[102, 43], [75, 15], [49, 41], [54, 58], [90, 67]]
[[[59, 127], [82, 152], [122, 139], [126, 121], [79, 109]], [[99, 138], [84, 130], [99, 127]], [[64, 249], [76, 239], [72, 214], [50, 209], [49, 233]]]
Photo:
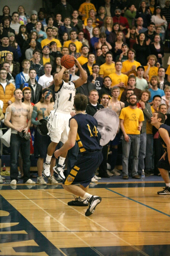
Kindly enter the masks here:
[[78, 160], [63, 181], [64, 185], [80, 184], [87, 187], [103, 161], [102, 150], [78, 155]]

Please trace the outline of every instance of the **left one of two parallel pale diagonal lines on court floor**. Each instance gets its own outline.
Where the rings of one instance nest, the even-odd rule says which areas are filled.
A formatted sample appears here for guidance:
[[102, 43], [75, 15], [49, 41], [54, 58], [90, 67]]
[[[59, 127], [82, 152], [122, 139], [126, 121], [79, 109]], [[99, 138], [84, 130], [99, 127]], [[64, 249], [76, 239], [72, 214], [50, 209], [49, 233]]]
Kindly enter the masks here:
[[[20, 192], [23, 196], [27, 197], [26, 195], [24, 195], [20, 190], [17, 190], [18, 192]], [[50, 194], [50, 193], [49, 193]], [[58, 198], [56, 198], [58, 200]], [[79, 240], [81, 240], [84, 244], [86, 244], [89, 248], [91, 248], [93, 251], [95, 251], [98, 255], [100, 256], [104, 256], [102, 253], [100, 253], [98, 250], [96, 250], [94, 247], [90, 246], [88, 243], [86, 243], [86, 241], [84, 241], [81, 237], [79, 237], [77, 234], [75, 234], [73, 231], [71, 231], [69, 228], [67, 228], [63, 223], [61, 223], [59, 220], [57, 220], [55, 217], [53, 217], [50, 213], [48, 213], [46, 210], [44, 210], [41, 206], [39, 206], [38, 204], [36, 204], [35, 202], [33, 202], [31, 199], [29, 199], [30, 202], [32, 202], [33, 204], [35, 204], [38, 208], [40, 208], [43, 212], [45, 212], [46, 214], [48, 214], [51, 218], [53, 218], [55, 221], [57, 221], [61, 226], [63, 226], [66, 230], [70, 231], [73, 235], [75, 235]], [[60, 200], [60, 199], [59, 199]], [[56, 247], [57, 249], [59, 249], [64, 256], [67, 256], [59, 247]]]

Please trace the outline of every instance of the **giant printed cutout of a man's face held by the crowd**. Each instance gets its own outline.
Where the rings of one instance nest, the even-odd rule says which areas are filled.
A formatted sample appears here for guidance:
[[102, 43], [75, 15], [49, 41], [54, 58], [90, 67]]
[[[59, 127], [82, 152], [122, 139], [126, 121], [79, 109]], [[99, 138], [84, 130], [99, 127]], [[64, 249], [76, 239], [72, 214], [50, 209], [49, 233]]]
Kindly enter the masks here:
[[94, 118], [98, 122], [97, 129], [102, 136], [100, 145], [104, 146], [115, 138], [119, 127], [119, 117], [115, 111], [105, 108], [98, 110]]

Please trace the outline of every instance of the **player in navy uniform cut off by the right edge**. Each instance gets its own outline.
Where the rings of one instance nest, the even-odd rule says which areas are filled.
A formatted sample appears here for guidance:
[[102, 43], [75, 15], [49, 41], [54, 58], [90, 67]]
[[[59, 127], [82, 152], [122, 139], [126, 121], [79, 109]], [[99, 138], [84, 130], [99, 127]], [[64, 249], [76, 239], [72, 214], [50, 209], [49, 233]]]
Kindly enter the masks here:
[[165, 153], [157, 163], [157, 167], [161, 173], [163, 180], [165, 181], [165, 188], [163, 191], [158, 191], [158, 195], [170, 195], [170, 126], [165, 125], [165, 115], [161, 112], [155, 112], [151, 117], [151, 124], [155, 126], [160, 135], [161, 144]]

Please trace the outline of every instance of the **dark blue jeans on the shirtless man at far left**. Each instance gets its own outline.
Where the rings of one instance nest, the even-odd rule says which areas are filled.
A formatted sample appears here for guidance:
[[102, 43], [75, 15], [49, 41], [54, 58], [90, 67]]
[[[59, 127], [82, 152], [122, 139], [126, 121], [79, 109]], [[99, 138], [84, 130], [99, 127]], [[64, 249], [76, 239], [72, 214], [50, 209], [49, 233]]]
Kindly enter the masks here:
[[23, 161], [23, 183], [30, 178], [30, 141], [22, 138], [19, 134], [11, 133], [11, 163], [10, 163], [10, 178], [18, 181], [18, 155], [21, 147]]

